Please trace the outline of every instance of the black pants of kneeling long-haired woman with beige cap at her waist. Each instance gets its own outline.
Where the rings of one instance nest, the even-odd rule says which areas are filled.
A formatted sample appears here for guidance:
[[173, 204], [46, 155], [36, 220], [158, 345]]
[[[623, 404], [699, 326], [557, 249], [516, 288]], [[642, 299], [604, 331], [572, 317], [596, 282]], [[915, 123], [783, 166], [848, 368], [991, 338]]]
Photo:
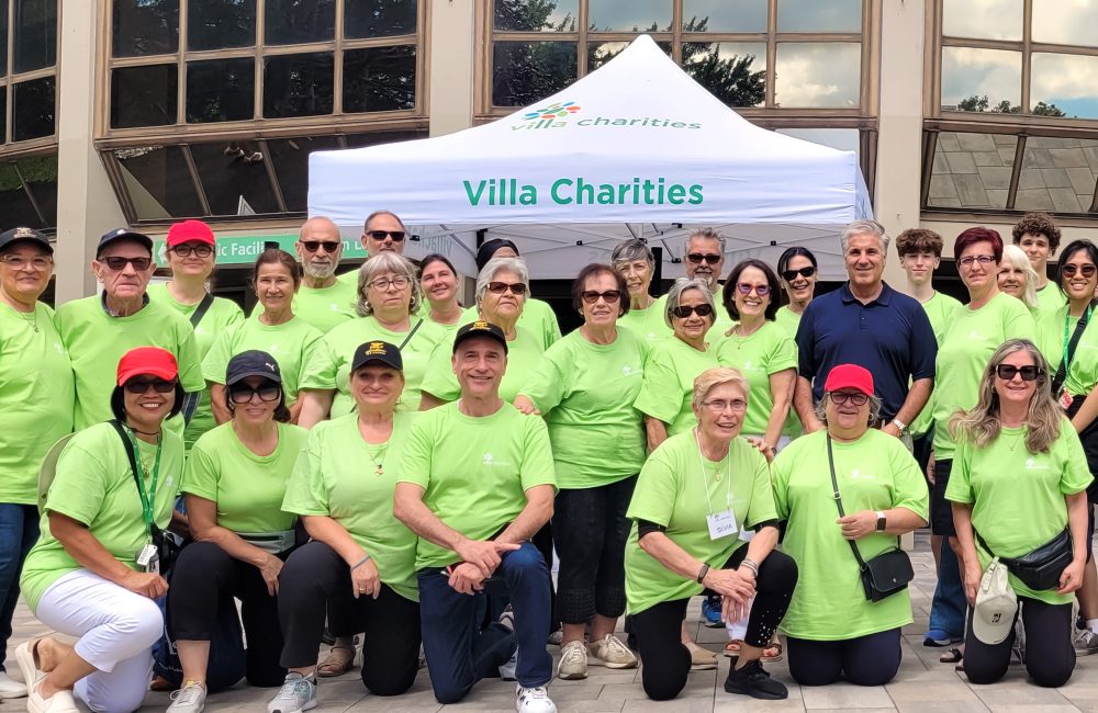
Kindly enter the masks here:
[[[1029, 597], [1018, 598], [1022, 626], [1026, 627], [1026, 670], [1038, 686], [1057, 688], [1072, 678], [1075, 648], [1072, 646], [1072, 606], [1049, 604]], [[964, 635], [964, 672], [972, 683], [994, 683], [1010, 665], [1015, 630], [993, 645], [984, 644], [972, 633], [972, 612]], [[1015, 612], [1015, 621], [1018, 621]]]

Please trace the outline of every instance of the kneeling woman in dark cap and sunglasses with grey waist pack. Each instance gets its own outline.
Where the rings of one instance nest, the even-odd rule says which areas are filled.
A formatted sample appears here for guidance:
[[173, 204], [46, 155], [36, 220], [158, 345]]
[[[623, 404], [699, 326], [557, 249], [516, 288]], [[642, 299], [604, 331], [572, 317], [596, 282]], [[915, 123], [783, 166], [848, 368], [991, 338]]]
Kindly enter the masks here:
[[294, 546], [296, 517], [282, 512], [282, 499], [307, 432], [289, 423], [282, 374], [267, 352], [229, 360], [225, 387], [233, 419], [194, 443], [180, 487], [195, 542], [180, 553], [168, 597], [168, 629], [183, 668], [172, 713], [202, 710], [210, 633], [219, 608], [234, 598], [242, 602], [248, 682], [279, 686], [285, 676], [278, 576]]

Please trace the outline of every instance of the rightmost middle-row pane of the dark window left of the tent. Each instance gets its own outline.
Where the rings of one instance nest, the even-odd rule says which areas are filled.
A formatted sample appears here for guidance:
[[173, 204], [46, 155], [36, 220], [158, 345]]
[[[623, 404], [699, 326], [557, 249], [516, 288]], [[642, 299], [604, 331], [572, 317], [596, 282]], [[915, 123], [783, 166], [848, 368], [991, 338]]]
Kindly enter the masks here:
[[344, 52], [344, 112], [415, 109], [415, 45]]

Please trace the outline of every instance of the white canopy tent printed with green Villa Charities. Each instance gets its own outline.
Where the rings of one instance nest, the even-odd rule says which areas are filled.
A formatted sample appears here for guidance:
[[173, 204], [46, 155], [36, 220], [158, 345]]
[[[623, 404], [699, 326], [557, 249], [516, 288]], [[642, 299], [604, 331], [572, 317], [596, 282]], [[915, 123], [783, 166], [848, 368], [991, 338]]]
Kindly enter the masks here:
[[791, 245], [844, 275], [836, 236], [870, 217], [851, 151], [752, 125], [648, 37], [567, 90], [456, 134], [310, 157], [309, 214], [348, 237], [377, 208], [418, 239], [411, 257], [448, 256], [474, 274], [478, 234], [507, 237], [536, 279], [607, 261], [619, 240], [663, 247], [663, 276], [683, 274], [683, 237], [713, 226], [728, 261], [776, 261]]

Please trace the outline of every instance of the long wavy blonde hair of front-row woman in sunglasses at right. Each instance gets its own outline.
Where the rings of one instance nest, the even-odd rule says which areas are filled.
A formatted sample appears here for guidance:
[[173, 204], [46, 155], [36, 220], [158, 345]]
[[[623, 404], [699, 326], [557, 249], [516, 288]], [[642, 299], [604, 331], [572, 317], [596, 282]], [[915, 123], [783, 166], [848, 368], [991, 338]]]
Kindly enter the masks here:
[[1049, 362], [1041, 351], [1028, 339], [1008, 339], [995, 350], [987, 362], [984, 376], [979, 380], [979, 400], [967, 411], [955, 411], [950, 417], [950, 434], [965, 439], [976, 448], [985, 448], [999, 437], [1002, 422], [999, 420], [999, 395], [995, 393], [995, 370], [1015, 352], [1024, 351], [1038, 367], [1037, 386], [1030, 398], [1026, 414], [1026, 449], [1030, 453], [1041, 453], [1060, 438], [1064, 410], [1056, 403], [1049, 388]]

